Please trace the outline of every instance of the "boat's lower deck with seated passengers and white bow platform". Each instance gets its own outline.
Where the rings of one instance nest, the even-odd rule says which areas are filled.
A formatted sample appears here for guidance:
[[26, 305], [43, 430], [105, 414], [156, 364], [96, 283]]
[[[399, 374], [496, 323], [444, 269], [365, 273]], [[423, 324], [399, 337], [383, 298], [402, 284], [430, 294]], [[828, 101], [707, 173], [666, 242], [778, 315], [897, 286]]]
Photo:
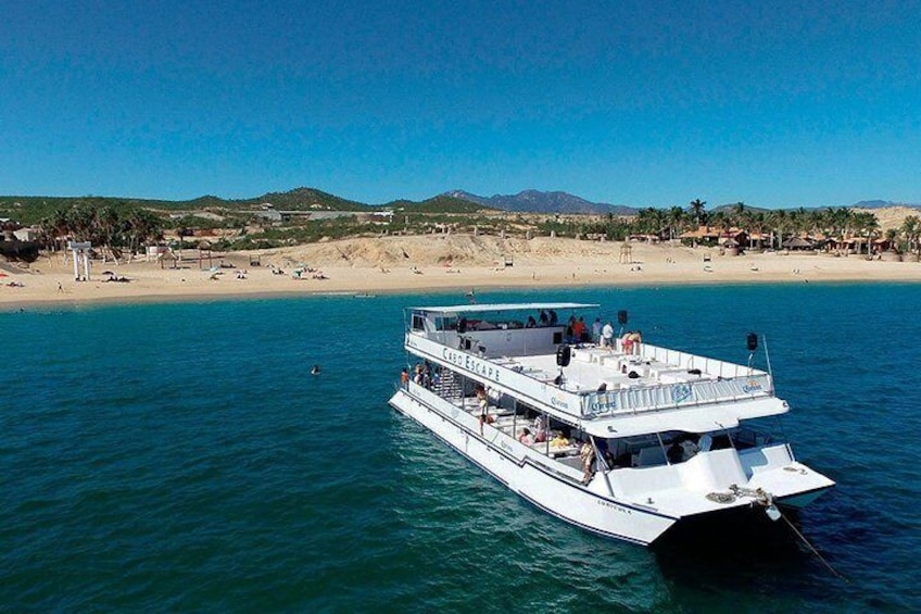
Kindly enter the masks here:
[[[431, 411], [455, 416], [491, 447], [520, 450], [519, 459], [530, 458], [573, 484], [589, 480], [590, 489], [615, 501], [677, 517], [752, 502], [750, 494], [733, 494], [734, 487], [762, 488], [797, 504], [833, 485], [796, 463], [787, 446], [745, 429], [707, 434], [706, 441], [686, 433], [589, 438], [507, 397], [413, 383], [407, 391]], [[588, 466], [580, 455], [585, 442], [592, 447]]]

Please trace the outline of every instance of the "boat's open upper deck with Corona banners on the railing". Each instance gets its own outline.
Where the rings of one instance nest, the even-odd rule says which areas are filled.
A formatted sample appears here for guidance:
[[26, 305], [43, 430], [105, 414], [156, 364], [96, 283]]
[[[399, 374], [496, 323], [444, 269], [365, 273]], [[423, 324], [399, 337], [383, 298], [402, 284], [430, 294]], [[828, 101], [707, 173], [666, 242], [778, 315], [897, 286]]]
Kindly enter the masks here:
[[[771, 377], [764, 371], [623, 338], [603, 347], [591, 341], [591, 335], [573, 335], [568, 318], [564, 324], [543, 323], [520, 315], [596, 306], [415, 309], [406, 348], [551, 414], [591, 421], [608, 430], [624, 427], [622, 421], [605, 424], [609, 418], [644, 414], [644, 419], [631, 421], [642, 429], [654, 413], [704, 405], [712, 410], [703, 425], [710, 428], [715, 421], [730, 426], [745, 417], [786, 411], [786, 404], [773, 397]], [[719, 405], [729, 401], [732, 411], [721, 411]], [[699, 412], [680, 414], [687, 430], [701, 422]]]

